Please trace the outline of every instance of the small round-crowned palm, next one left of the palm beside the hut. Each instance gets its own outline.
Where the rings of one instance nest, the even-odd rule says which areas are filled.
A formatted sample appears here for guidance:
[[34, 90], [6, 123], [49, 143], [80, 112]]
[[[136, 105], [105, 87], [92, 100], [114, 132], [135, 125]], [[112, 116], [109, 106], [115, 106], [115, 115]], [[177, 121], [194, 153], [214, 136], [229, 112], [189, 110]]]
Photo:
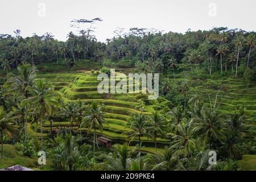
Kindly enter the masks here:
[[70, 133], [73, 129], [73, 119], [79, 116], [79, 112], [82, 108], [76, 102], [68, 102], [61, 107], [61, 114], [64, 117], [70, 118], [71, 125], [69, 127]]

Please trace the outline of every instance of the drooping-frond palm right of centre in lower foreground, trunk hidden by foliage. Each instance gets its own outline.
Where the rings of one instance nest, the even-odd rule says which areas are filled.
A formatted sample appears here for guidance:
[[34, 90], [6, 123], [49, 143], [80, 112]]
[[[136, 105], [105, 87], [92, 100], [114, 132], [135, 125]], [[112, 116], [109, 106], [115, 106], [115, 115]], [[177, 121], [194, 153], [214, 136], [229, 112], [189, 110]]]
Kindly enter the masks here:
[[198, 127], [193, 125], [193, 122], [188, 123], [181, 122], [175, 126], [176, 134], [172, 134], [171, 148], [174, 148], [175, 151], [183, 151], [183, 155], [187, 156], [191, 153], [193, 147], [195, 147], [195, 141], [193, 139]]

